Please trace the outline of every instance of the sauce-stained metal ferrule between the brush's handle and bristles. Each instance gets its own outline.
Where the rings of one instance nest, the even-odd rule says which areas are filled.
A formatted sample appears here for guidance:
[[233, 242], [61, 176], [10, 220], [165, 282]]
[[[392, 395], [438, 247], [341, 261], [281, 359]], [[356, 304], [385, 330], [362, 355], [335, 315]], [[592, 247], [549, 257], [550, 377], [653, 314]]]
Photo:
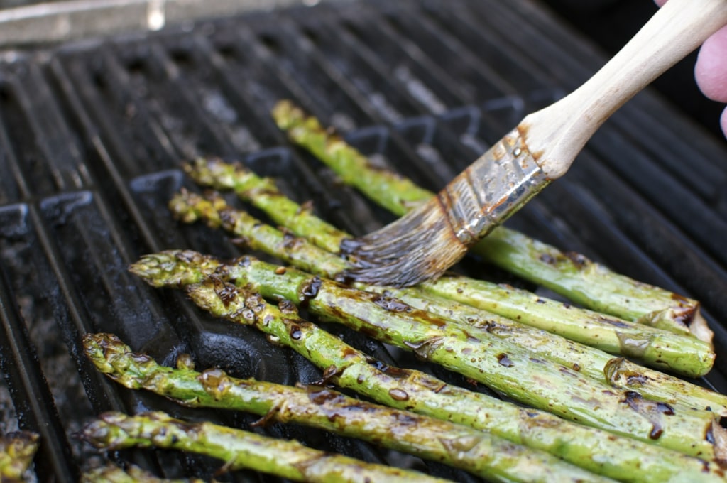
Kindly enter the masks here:
[[470, 165], [438, 193], [454, 234], [469, 246], [550, 183], [518, 129]]

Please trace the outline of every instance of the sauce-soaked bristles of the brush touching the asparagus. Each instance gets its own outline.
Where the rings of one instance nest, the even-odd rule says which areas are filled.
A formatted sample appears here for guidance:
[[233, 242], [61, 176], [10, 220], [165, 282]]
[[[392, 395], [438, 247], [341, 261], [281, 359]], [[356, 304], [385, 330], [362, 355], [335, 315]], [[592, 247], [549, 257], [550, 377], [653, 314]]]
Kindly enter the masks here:
[[437, 279], [467, 252], [436, 197], [384, 228], [345, 240], [341, 251], [355, 268], [345, 278], [409, 287]]

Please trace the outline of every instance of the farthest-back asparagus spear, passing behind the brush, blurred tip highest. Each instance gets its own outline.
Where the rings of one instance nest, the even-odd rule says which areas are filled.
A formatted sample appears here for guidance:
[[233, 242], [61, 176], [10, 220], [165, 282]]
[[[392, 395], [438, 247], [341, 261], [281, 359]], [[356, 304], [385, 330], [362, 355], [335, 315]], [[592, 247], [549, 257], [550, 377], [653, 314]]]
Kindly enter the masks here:
[[[289, 101], [281, 101], [273, 108], [273, 118], [294, 143], [313, 153], [344, 183], [355, 186], [395, 215], [401, 216], [433, 196], [401, 175], [372, 167], [366, 156]], [[593, 311], [631, 321], [651, 321], [674, 330], [683, 330], [683, 323], [691, 322], [692, 333], [711, 343], [712, 332], [699, 315], [696, 300], [636, 282], [583, 255], [561, 252], [505, 227], [492, 231], [475, 245], [473, 252]], [[668, 308], [673, 310], [665, 310]]]

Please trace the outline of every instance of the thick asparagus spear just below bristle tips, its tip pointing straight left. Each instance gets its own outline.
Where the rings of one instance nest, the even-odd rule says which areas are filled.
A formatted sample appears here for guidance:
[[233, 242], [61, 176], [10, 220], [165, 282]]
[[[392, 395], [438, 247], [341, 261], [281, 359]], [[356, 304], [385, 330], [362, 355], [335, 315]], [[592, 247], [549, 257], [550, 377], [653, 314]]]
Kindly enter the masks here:
[[[714, 455], [706, 438], [708, 431], [711, 434], [713, 420], [708, 412], [675, 410], [662, 402], [641, 399], [634, 391], [614, 391], [569, 367], [531, 358], [527, 348], [501, 338], [486, 338], [486, 330], [473, 327], [473, 336], [456, 324], [382, 295], [249, 257], [220, 266], [214, 259], [198, 254], [166, 252], [140, 260], [132, 271], [156, 286], [198, 282], [214, 272], [209, 284], [216, 291], [209, 303], [217, 306], [222, 303], [220, 298], [230, 304], [236, 297], [229, 284], [222, 282], [234, 280], [266, 298], [303, 303], [322, 320], [346, 324], [382, 342], [415, 351], [422, 359], [484, 383], [523, 404], [689, 455]], [[208, 303], [204, 299], [196, 302], [203, 306]]]

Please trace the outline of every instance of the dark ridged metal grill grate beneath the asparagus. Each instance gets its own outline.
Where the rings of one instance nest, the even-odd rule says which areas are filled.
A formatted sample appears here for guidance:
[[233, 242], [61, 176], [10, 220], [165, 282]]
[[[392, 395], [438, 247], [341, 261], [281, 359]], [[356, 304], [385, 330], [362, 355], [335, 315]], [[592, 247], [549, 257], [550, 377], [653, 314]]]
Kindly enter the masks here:
[[[534, 1], [372, 0], [85, 42], [3, 63], [0, 431], [39, 431], [39, 481], [65, 482], [93, 458], [73, 433], [105, 410], [162, 409], [243, 427], [253, 420], [183, 410], [114, 386], [84, 359], [85, 332], [114, 332], [166, 364], [188, 352], [200, 368], [290, 384], [318, 380], [310, 364], [254, 330], [211, 319], [179, 293], [150, 289], [126, 271], [140, 255], [169, 248], [240, 253], [222, 233], [179, 225], [166, 210], [180, 187], [195, 189], [180, 170], [195, 156], [243, 160], [354, 233], [390, 220], [286, 143], [268, 115], [277, 100], [294, 99], [365, 153], [435, 189], [602, 62]], [[508, 222], [702, 300], [718, 350], [704, 383], [720, 391], [727, 390], [725, 159], [722, 144], [646, 92], [607, 122], [565, 179]], [[391, 360], [377, 343], [334, 330]], [[410, 463], [316, 431], [265, 431]], [[209, 478], [219, 466], [173, 452], [110, 456], [169, 477]]]

